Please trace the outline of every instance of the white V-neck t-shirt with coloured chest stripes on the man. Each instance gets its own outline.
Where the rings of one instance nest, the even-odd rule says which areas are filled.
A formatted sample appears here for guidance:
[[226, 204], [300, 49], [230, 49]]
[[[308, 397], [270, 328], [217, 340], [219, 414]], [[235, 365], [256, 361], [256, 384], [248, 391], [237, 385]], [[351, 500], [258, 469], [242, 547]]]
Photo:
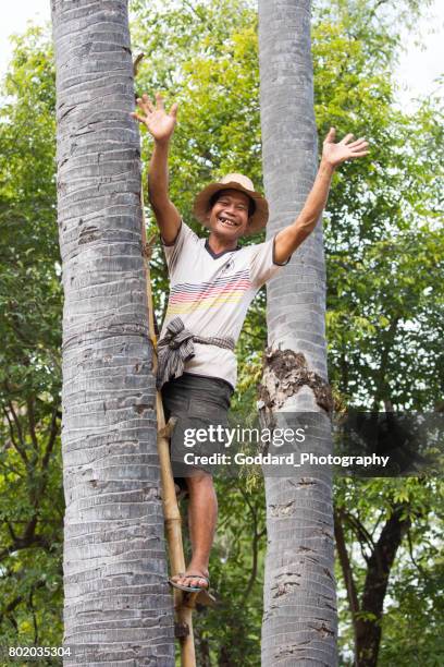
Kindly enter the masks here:
[[[197, 336], [231, 337], [236, 342], [248, 306], [262, 284], [282, 266], [273, 262], [274, 239], [215, 255], [206, 239], [181, 223], [175, 242], [163, 244], [170, 275], [170, 298], [160, 337], [181, 317]], [[219, 377], [235, 387], [236, 355], [231, 350], [194, 343], [185, 373]]]

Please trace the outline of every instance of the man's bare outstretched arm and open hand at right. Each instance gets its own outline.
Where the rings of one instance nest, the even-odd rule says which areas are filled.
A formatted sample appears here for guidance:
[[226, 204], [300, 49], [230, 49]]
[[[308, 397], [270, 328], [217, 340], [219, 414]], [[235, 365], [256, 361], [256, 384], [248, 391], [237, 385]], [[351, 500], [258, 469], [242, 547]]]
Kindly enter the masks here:
[[274, 262], [285, 264], [295, 250], [313, 231], [329, 198], [330, 185], [334, 170], [345, 160], [368, 155], [368, 142], [365, 138], [353, 141], [347, 134], [337, 144], [334, 143], [335, 130], [330, 129], [322, 149], [321, 163], [303, 210], [296, 220], [282, 229], [274, 239]]

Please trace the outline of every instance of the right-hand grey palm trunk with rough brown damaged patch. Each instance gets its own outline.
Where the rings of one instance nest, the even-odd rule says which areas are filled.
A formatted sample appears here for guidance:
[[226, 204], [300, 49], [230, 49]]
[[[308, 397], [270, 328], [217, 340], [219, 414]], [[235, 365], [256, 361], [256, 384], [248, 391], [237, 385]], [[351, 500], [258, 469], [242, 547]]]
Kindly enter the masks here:
[[[317, 168], [309, 0], [259, 0], [259, 52], [271, 238], [300, 211]], [[301, 359], [309, 371], [300, 384], [295, 383], [283, 409], [318, 413], [317, 435], [306, 440], [304, 451], [319, 454], [331, 451], [330, 420], [313, 384], [314, 377], [328, 380], [324, 272], [319, 223], [268, 284], [269, 347], [296, 353], [295, 374]], [[286, 389], [280, 387], [280, 374], [271, 378], [272, 374], [268, 366], [267, 388], [274, 386], [275, 396], [282, 397]], [[326, 469], [309, 475], [300, 470], [295, 469], [292, 478], [266, 477], [262, 665], [270, 667], [337, 662], [331, 474]]]

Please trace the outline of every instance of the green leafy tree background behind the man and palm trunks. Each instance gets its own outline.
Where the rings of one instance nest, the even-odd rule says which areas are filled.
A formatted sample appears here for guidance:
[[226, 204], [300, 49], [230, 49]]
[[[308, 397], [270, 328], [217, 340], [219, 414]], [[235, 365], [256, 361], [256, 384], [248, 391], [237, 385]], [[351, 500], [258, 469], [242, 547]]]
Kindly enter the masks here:
[[[171, 193], [199, 232], [190, 216], [193, 198], [213, 177], [240, 171], [261, 186], [256, 7], [248, 0], [134, 0], [131, 7], [133, 52], [146, 53], [137, 93], [163, 90], [170, 104], [180, 104]], [[442, 108], [429, 98], [415, 112], [400, 109], [393, 81], [402, 33], [423, 8], [411, 0], [313, 3], [320, 143], [330, 125], [340, 136], [353, 132], [371, 142], [369, 158], [335, 174], [324, 216], [329, 373], [340, 410], [444, 408]], [[54, 137], [50, 35], [32, 28], [16, 39], [0, 108], [4, 645], [59, 645], [62, 638], [62, 291]], [[141, 140], [146, 167], [150, 138], [143, 133]], [[150, 234], [148, 209], [147, 218]], [[152, 281], [161, 319], [168, 277], [159, 246]], [[261, 291], [237, 349], [233, 407], [245, 417], [256, 409], [264, 305]], [[220, 521], [210, 571], [221, 602], [196, 619], [198, 664], [257, 666], [267, 539], [262, 486], [256, 477], [221, 480], [218, 486]], [[354, 636], [362, 627], [380, 633], [378, 665], [441, 664], [442, 497], [440, 482], [427, 477], [336, 480], [342, 665], [354, 664]], [[392, 529], [398, 544], [388, 562]], [[370, 595], [375, 585], [383, 591], [380, 610]]]

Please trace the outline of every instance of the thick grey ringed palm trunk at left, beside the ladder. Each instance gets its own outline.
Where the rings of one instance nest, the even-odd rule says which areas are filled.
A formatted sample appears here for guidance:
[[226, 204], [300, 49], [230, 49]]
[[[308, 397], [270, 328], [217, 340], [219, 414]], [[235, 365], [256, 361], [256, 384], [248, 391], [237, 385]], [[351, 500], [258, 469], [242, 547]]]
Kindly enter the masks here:
[[174, 664], [127, 2], [52, 0], [66, 665]]

